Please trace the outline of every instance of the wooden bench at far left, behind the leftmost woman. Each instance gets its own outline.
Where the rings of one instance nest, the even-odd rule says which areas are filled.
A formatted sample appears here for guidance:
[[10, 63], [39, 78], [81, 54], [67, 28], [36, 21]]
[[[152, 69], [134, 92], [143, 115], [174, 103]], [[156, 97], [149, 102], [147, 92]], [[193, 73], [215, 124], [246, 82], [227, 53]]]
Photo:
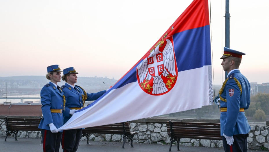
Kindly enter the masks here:
[[18, 131], [41, 131], [38, 125], [42, 119], [40, 118], [8, 118], [5, 117], [5, 127], [7, 128], [7, 135], [5, 136], [5, 142], [10, 133], [15, 135], [17, 140]]

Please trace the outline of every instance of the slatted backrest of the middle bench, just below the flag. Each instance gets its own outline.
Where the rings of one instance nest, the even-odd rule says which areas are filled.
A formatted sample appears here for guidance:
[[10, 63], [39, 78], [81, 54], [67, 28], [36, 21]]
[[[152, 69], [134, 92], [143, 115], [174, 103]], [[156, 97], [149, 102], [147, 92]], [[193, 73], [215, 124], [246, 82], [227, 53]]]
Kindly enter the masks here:
[[126, 133], [130, 133], [130, 127], [129, 127], [128, 122], [108, 124], [108, 125], [96, 126], [96, 127], [88, 127], [88, 128], [83, 129], [83, 132], [123, 135], [124, 130]]

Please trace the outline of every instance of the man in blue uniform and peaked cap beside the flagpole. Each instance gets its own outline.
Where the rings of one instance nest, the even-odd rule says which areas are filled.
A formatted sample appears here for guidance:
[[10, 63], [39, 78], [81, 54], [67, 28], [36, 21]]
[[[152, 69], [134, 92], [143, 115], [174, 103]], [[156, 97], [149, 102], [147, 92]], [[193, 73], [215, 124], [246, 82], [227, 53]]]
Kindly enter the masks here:
[[244, 110], [250, 104], [250, 84], [239, 71], [242, 52], [224, 47], [221, 65], [228, 72], [220, 89], [220, 132], [226, 152], [246, 152], [250, 131]]

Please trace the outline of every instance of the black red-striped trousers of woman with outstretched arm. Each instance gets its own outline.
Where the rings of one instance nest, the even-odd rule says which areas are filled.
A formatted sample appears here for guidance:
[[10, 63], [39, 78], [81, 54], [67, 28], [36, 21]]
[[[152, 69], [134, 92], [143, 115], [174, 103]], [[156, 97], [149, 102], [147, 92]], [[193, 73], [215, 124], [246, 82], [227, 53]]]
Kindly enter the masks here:
[[81, 137], [82, 129], [70, 129], [62, 132], [62, 149], [63, 152], [75, 152]]

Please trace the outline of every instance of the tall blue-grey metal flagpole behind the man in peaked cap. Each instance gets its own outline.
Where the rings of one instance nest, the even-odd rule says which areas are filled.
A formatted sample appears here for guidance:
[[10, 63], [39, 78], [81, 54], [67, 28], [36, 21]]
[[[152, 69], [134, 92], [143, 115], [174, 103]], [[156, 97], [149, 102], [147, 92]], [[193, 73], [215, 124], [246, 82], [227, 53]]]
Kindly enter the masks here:
[[[225, 4], [225, 47], [230, 48], [230, 0], [226, 0]], [[225, 71], [225, 79], [228, 73]]]

